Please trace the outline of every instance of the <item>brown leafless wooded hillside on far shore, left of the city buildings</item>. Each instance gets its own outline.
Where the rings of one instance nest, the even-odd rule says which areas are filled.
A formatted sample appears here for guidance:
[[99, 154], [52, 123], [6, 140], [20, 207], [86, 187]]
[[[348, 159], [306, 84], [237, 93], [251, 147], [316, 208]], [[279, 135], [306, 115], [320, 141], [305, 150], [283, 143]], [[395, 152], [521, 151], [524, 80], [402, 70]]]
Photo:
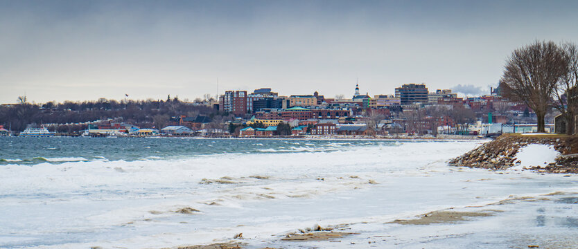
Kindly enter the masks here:
[[23, 131], [27, 124], [69, 124], [58, 126], [59, 132], [86, 129], [86, 125], [76, 124], [107, 120], [109, 118], [130, 122], [143, 128], [164, 127], [170, 117], [186, 115], [215, 116], [217, 111], [204, 104], [172, 100], [106, 100], [62, 103], [46, 102], [30, 104], [21, 101], [19, 104], [0, 106], [0, 124], [12, 131]]

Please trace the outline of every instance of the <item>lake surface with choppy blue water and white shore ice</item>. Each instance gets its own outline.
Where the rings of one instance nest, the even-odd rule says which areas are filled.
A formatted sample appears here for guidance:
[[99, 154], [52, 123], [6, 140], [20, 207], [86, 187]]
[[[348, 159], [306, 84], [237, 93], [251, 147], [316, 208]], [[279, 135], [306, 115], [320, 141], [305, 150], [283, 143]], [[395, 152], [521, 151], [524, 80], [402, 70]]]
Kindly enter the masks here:
[[[0, 248], [576, 245], [578, 178], [446, 164], [480, 143], [0, 138]], [[447, 208], [496, 215], [389, 223]], [[280, 240], [315, 224], [356, 234]]]

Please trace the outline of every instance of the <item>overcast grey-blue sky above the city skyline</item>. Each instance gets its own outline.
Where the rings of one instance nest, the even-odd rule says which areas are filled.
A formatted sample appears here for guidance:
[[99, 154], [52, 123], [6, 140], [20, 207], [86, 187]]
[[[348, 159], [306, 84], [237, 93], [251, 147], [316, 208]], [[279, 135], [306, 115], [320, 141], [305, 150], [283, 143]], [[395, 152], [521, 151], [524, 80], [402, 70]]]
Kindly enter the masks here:
[[[486, 93], [511, 51], [578, 42], [578, 1], [3, 1], [0, 102], [271, 87]], [[218, 81], [218, 86], [217, 86]]]

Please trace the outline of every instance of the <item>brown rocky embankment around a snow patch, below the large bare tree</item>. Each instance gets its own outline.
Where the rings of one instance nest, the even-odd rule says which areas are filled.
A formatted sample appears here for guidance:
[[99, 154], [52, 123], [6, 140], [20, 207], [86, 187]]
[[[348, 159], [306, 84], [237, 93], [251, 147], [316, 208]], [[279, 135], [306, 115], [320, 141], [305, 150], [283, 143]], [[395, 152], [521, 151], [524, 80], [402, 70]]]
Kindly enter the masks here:
[[520, 161], [516, 154], [527, 145], [551, 145], [560, 153], [554, 163], [546, 166], [532, 165], [526, 169], [541, 173], [578, 174], [578, 136], [558, 134], [520, 135], [504, 134], [484, 143], [466, 154], [453, 158], [448, 163], [453, 166], [475, 167], [492, 170], [509, 169]]

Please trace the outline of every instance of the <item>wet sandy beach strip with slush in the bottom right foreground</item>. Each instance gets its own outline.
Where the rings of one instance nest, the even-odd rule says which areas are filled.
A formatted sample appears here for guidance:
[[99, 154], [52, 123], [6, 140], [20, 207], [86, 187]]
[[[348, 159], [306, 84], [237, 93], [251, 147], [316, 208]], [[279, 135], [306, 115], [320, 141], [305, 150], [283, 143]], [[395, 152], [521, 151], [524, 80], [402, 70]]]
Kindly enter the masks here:
[[[555, 232], [545, 232], [546, 235], [539, 238], [530, 239], [536, 232], [541, 231], [541, 223], [536, 223], [534, 227], [507, 228], [517, 232], [496, 232], [491, 228], [478, 230], [478, 226], [498, 221], [511, 221], [514, 223], [525, 223], [532, 221], [533, 216], [519, 216], [517, 212], [521, 210], [533, 210], [534, 207], [554, 208], [572, 207], [572, 200], [575, 200], [578, 192], [548, 192], [530, 195], [510, 195], [504, 196], [496, 201], [489, 201], [480, 205], [464, 205], [460, 207], [440, 208], [436, 210], [422, 210], [414, 214], [400, 214], [385, 220], [376, 219], [374, 221], [352, 221], [349, 223], [339, 223], [322, 227], [317, 224], [311, 228], [296, 228], [292, 231], [271, 234], [272, 238], [252, 236], [247, 232], [247, 238], [243, 237], [243, 232], [236, 234], [230, 239], [213, 241], [207, 244], [181, 245], [169, 247], [172, 249], [275, 249], [275, 248], [359, 248], [379, 247], [398, 248], [399, 246], [416, 245], [450, 245], [462, 238], [472, 239], [471, 244], [487, 244], [487, 248], [496, 248], [507, 243], [507, 248], [574, 248], [578, 245], [578, 239], [572, 235], [556, 234]], [[545, 208], [542, 208], [545, 209]], [[540, 208], [538, 208], [540, 210]], [[552, 211], [554, 212], [554, 211]], [[568, 211], [571, 212], [571, 211]], [[554, 216], [563, 219], [566, 214], [555, 214]], [[549, 219], [554, 219], [550, 216]], [[540, 216], [538, 216], [538, 219]], [[571, 218], [571, 217], [570, 217]], [[569, 219], [569, 222], [574, 222]], [[371, 230], [375, 225], [383, 224], [381, 230]], [[572, 223], [574, 225], [578, 225]], [[412, 230], [419, 230], [423, 234], [408, 233]], [[482, 234], [493, 234], [502, 237], [496, 241], [486, 241]], [[559, 235], [558, 239], [552, 241], [550, 236]], [[421, 248], [421, 247], [420, 247]], [[427, 248], [427, 247], [426, 247]], [[499, 247], [502, 248], [502, 247]], [[168, 249], [168, 248], [163, 248]]]

